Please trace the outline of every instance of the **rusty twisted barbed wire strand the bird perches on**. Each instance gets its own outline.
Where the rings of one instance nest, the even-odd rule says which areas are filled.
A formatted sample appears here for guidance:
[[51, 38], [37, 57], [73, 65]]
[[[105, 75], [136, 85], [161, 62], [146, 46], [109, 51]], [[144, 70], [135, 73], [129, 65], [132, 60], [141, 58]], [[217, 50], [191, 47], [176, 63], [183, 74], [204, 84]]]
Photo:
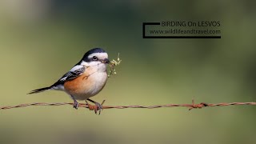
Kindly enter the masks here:
[[[105, 100], [102, 102], [105, 102]], [[73, 105], [73, 103], [70, 102], [54, 102], [54, 103], [47, 103], [47, 102], [34, 102], [34, 103], [26, 103], [26, 104], [20, 104], [17, 106], [0, 106], [0, 110], [7, 110], [7, 109], [13, 109], [13, 108], [19, 108], [19, 107], [26, 107], [26, 106], [62, 106], [62, 105]], [[251, 105], [256, 106], [256, 102], [222, 102], [222, 103], [205, 103], [201, 102], [198, 104], [194, 103], [194, 100], [192, 100], [192, 104], [166, 104], [166, 105], [154, 105], [154, 106], [141, 106], [141, 105], [131, 105], [131, 106], [102, 106], [103, 109], [126, 109], [126, 108], [145, 108], [145, 109], [155, 109], [155, 108], [162, 108], [162, 107], [188, 107], [189, 110], [196, 109], [196, 108], [203, 108], [203, 107], [210, 107], [210, 106], [233, 106], [233, 105]], [[98, 106], [92, 106], [88, 103], [79, 103], [78, 107], [85, 107], [89, 110], [94, 110], [95, 113], [98, 110]]]

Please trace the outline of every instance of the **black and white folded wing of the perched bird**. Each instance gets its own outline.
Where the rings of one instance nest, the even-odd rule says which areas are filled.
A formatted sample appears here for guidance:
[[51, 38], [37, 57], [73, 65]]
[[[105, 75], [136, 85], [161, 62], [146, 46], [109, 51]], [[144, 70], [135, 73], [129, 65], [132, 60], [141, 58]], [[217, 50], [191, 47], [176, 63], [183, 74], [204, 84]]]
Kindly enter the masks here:
[[60, 78], [57, 82], [54, 83], [52, 86], [58, 86], [60, 84], [63, 84], [66, 81], [69, 81], [71, 79], [77, 78], [79, 75], [82, 75], [86, 70], [85, 66], [82, 65], [76, 65], [74, 66], [69, 72], [64, 74], [62, 78]]

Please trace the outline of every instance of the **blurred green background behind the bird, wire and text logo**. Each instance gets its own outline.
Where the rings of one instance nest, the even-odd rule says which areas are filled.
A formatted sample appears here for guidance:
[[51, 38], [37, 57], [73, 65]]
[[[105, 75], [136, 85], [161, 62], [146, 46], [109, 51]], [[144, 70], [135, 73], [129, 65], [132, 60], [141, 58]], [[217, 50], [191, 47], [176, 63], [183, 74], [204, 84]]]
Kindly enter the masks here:
[[[49, 86], [91, 48], [118, 74], [95, 101], [154, 105], [256, 101], [255, 1], [0, 2], [0, 106], [72, 102]], [[221, 39], [143, 39], [142, 22], [220, 21]], [[255, 106], [103, 110], [29, 106], [0, 111], [0, 143], [254, 143]]]

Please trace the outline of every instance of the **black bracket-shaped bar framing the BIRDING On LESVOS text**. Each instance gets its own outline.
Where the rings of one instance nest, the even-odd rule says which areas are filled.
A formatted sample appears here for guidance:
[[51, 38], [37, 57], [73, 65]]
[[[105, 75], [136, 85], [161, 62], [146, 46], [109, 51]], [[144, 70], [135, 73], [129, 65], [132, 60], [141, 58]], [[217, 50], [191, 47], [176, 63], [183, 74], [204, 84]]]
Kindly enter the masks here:
[[143, 38], [222, 38], [222, 36], [146, 36], [146, 26], [160, 25], [160, 22], [143, 22], [142, 24], [142, 35]]

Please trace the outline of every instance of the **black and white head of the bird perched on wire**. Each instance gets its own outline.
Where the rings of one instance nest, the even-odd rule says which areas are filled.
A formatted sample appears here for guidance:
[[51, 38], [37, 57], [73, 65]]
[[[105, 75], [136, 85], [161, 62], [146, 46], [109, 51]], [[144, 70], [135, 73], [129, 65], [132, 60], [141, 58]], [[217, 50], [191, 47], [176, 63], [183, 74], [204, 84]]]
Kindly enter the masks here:
[[80, 64], [84, 66], [98, 66], [98, 68], [106, 69], [109, 63], [108, 54], [101, 48], [94, 48], [84, 54]]

